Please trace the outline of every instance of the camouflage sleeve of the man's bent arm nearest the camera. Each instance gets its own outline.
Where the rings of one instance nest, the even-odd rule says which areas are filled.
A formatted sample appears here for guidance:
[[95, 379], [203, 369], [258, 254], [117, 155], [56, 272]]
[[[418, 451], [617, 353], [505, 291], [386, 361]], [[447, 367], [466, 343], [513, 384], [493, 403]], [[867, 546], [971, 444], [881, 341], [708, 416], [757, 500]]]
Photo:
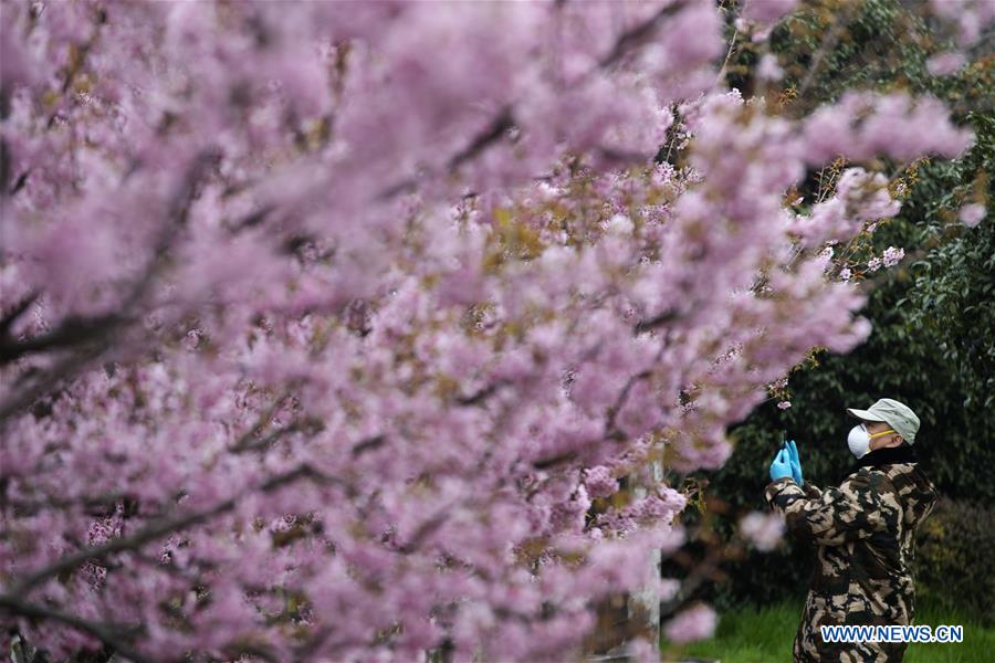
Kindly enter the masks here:
[[821, 546], [867, 538], [897, 526], [901, 517], [894, 487], [880, 472], [862, 469], [838, 488], [818, 491], [815, 496], [816, 491], [806, 492], [785, 477], [768, 484], [764, 496], [773, 509], [784, 514], [788, 530]]

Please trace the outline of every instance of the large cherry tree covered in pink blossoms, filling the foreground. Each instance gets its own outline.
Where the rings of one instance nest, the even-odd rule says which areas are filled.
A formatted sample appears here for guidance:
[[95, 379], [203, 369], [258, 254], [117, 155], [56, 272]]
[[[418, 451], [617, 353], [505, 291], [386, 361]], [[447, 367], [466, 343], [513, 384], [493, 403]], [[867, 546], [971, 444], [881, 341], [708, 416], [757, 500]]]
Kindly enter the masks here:
[[860, 343], [824, 249], [971, 141], [724, 90], [703, 1], [0, 7], [0, 619], [55, 656], [562, 656], [683, 543], [618, 478]]

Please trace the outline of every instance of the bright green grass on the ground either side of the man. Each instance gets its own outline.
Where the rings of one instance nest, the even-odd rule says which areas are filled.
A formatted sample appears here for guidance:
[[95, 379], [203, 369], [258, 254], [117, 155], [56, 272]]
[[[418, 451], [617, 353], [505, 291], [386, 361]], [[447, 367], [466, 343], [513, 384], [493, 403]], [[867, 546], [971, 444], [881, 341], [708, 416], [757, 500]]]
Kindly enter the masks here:
[[[722, 614], [711, 640], [684, 646], [662, 643], [664, 661], [709, 660], [722, 663], [768, 663], [792, 660], [792, 641], [802, 618], [803, 602]], [[923, 604], [915, 623], [963, 624], [964, 642], [911, 643], [905, 663], [986, 663], [995, 661], [995, 628], [984, 628], [963, 612]]]

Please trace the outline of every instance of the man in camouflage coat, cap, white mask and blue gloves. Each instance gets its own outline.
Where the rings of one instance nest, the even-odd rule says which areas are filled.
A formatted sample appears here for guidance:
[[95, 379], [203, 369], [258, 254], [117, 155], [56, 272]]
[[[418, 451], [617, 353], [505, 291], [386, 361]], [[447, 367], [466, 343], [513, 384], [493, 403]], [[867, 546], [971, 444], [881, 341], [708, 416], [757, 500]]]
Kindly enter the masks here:
[[794, 536], [817, 546], [795, 661], [891, 663], [902, 660], [905, 643], [826, 642], [819, 627], [912, 623], [915, 529], [938, 495], [917, 467], [912, 410], [882, 398], [847, 413], [860, 420], [847, 440], [857, 463], [838, 488], [803, 480], [792, 440], [771, 464], [764, 494]]

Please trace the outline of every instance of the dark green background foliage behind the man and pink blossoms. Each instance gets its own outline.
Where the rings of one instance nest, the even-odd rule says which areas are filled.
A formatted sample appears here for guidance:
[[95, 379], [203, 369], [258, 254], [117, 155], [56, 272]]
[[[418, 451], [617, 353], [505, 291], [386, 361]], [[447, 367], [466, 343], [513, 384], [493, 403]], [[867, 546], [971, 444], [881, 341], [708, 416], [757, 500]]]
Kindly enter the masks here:
[[[995, 59], [975, 52], [959, 74], [930, 76], [926, 59], [950, 43], [914, 9], [897, 0], [866, 0], [844, 11], [838, 2], [823, 0], [772, 34], [771, 49], [786, 78], [784, 90], [771, 94], [796, 112], [832, 101], [848, 87], [908, 88], [949, 103], [955, 117], [972, 126], [976, 144], [961, 159], [928, 159], [903, 177], [902, 212], [871, 235], [870, 251], [880, 254], [893, 245], [907, 257], [865, 283], [862, 315], [873, 324], [868, 341], [847, 356], [817, 354], [790, 376], [790, 409], [768, 401], [731, 431], [733, 455], [708, 477], [709, 495], [725, 504], [724, 514], [714, 518], [723, 535], [742, 514], [766, 508], [762, 493], [782, 431], [797, 441], [807, 481], [838, 484], [853, 461], [846, 445], [853, 420], [845, 409], [866, 408], [882, 397], [901, 400], [919, 414], [915, 448], [941, 494], [995, 506], [995, 227], [991, 213], [973, 229], [957, 218], [965, 203], [991, 210], [995, 201]], [[737, 50], [729, 67], [734, 84], [753, 84], [760, 48], [744, 43]], [[991, 551], [991, 545], [978, 549]], [[774, 554], [730, 560], [730, 581], [712, 588], [709, 598], [722, 607], [800, 600], [810, 555], [788, 539]], [[963, 564], [959, 569], [965, 583], [989, 587], [989, 567]], [[935, 582], [935, 576], [929, 578]], [[941, 598], [961, 596], [973, 606], [964, 592]]]

